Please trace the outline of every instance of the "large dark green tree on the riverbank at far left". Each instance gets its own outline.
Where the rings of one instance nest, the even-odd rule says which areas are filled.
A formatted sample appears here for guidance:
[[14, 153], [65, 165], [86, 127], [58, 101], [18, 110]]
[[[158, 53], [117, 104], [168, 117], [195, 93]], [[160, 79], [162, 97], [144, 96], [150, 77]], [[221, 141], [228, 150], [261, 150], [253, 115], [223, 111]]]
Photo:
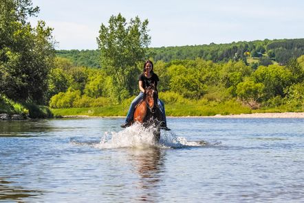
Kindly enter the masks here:
[[43, 104], [54, 59], [52, 29], [27, 22], [38, 7], [30, 0], [0, 1], [0, 94]]

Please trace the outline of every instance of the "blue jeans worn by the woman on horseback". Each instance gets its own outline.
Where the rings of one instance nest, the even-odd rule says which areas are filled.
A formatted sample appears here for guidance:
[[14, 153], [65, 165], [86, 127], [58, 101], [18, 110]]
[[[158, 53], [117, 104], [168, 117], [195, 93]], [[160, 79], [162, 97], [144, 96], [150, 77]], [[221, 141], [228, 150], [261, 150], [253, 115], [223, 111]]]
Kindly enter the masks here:
[[[140, 103], [142, 98], [144, 98], [144, 93], [140, 92], [140, 94], [131, 102], [127, 113], [126, 123], [133, 121], [135, 106]], [[164, 111], [164, 102], [162, 102], [160, 99], [158, 99], [158, 107], [160, 108], [160, 112], [162, 112], [162, 121], [164, 121], [164, 125], [166, 126], [166, 112]]]

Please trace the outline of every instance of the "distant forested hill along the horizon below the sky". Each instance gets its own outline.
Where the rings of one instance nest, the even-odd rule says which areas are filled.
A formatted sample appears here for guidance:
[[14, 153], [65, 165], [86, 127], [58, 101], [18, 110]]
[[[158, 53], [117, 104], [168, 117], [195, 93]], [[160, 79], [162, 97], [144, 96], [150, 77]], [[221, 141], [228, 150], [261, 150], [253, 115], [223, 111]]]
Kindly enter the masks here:
[[[100, 67], [98, 50], [58, 50], [56, 55], [69, 58], [75, 66]], [[269, 59], [279, 64], [285, 64], [290, 58], [304, 55], [304, 38], [279, 39], [279, 40], [254, 40], [240, 41], [227, 44], [189, 45], [181, 47], [154, 47], [146, 51], [146, 58], [153, 58], [156, 62], [163, 60], [184, 60], [203, 58], [213, 62], [227, 62], [228, 60], [243, 60], [248, 63], [248, 58], [257, 61]]]

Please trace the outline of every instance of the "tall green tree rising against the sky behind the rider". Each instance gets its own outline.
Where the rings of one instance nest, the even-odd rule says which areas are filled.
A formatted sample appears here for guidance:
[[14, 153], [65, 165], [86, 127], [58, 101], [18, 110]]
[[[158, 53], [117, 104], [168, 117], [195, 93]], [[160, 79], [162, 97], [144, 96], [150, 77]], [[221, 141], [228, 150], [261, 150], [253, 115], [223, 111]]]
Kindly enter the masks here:
[[118, 100], [124, 99], [120, 96], [128, 96], [138, 89], [136, 81], [141, 71], [138, 63], [144, 60], [145, 51], [151, 42], [147, 34], [148, 23], [147, 19], [141, 22], [138, 16], [127, 23], [118, 14], [110, 17], [108, 27], [103, 23], [100, 26], [97, 42], [101, 67], [113, 78]]

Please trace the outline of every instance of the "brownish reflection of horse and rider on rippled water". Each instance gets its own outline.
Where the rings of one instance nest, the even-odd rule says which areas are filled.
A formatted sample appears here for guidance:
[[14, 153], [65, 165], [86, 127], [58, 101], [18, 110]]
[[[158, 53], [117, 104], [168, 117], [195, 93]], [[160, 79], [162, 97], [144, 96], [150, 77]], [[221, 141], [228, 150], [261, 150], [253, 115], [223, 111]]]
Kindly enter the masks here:
[[164, 172], [164, 150], [158, 147], [131, 151], [136, 171], [140, 176], [137, 189], [141, 191], [137, 200], [153, 202], [160, 197], [160, 182]]

